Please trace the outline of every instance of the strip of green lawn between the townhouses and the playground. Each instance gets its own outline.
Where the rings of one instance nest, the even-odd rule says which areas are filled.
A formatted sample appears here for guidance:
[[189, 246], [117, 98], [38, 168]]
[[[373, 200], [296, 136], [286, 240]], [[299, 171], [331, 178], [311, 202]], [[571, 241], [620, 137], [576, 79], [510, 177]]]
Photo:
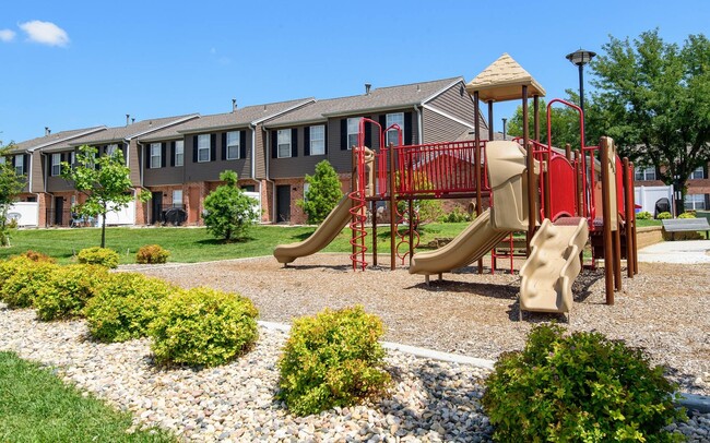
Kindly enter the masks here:
[[[435, 237], [455, 237], [466, 223], [431, 224], [422, 227], [422, 243]], [[308, 238], [315, 227], [256, 226], [245, 241], [224, 243], [210, 236], [205, 228], [107, 228], [106, 246], [118, 251], [121, 263], [135, 263], [135, 252], [145, 244], [157, 243], [170, 251], [169, 262], [196, 263], [223, 259], [270, 255], [276, 244], [292, 243]], [[378, 251], [389, 251], [389, 226], [380, 226], [377, 232]], [[350, 228], [324, 249], [328, 252], [351, 250]], [[84, 248], [100, 244], [99, 228], [74, 229], [22, 229], [11, 235], [11, 247], [0, 249], [0, 259], [16, 255], [26, 250], [43, 252], [59, 263], [71, 263], [75, 253]], [[367, 237], [368, 249], [371, 237]]]

